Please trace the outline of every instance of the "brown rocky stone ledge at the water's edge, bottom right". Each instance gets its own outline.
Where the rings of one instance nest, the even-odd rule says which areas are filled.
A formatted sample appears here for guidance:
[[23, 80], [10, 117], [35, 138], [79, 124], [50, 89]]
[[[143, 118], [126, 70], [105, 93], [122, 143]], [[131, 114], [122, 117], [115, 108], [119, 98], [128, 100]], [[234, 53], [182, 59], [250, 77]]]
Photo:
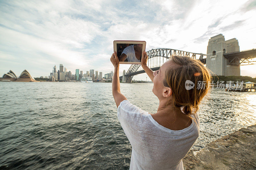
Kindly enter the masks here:
[[256, 169], [256, 124], [189, 151], [184, 169]]

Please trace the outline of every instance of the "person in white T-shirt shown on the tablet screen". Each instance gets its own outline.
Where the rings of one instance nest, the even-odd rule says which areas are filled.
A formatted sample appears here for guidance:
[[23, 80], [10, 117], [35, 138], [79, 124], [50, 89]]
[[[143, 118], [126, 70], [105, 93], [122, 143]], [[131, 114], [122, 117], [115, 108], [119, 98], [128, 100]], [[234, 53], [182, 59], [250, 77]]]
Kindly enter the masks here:
[[130, 45], [124, 48], [119, 60], [123, 62], [127, 58], [128, 62], [140, 62], [141, 53], [142, 44]]

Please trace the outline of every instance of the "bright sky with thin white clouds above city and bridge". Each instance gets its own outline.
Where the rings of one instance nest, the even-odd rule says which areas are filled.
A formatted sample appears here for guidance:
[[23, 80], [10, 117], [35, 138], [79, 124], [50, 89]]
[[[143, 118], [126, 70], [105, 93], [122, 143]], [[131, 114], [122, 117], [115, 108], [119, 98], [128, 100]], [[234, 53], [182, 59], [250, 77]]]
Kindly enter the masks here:
[[[256, 48], [256, 0], [0, 1], [0, 76], [48, 76], [60, 63], [75, 74], [113, 70], [114, 40], [146, 41], [146, 51], [172, 48], [206, 54], [212, 36]], [[120, 64], [120, 75], [130, 64]], [[256, 77], [256, 64], [241, 66]], [[146, 74], [134, 76], [146, 80]]]

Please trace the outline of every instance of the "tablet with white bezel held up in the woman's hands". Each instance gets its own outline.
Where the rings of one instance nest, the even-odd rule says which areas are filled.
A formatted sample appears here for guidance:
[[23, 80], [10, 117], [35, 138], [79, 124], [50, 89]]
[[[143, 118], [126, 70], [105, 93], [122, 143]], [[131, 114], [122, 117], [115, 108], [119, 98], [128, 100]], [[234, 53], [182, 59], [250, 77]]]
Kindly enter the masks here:
[[141, 64], [146, 41], [114, 41], [114, 51], [120, 64]]

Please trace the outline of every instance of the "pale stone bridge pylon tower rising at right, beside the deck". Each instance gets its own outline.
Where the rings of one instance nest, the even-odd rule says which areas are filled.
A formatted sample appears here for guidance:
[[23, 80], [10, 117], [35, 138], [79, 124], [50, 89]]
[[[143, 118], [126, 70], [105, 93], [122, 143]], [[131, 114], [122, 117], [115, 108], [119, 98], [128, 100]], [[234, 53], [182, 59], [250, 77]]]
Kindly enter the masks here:
[[206, 67], [217, 76], [240, 76], [240, 66], [228, 65], [224, 53], [240, 51], [236, 38], [225, 41], [222, 34], [211, 37], [207, 46]]

